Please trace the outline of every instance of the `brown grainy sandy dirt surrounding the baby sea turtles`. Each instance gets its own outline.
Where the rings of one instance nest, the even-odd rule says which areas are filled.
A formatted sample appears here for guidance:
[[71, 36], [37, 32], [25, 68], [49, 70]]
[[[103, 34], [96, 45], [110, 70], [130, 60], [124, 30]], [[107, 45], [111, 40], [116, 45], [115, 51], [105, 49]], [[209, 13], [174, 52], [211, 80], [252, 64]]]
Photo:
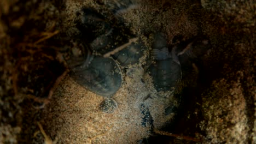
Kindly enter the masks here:
[[[122, 68], [123, 83], [113, 96], [118, 108], [103, 113], [104, 98], [72, 80], [60, 54], [84, 40], [75, 24], [82, 8], [112, 19], [115, 3], [0, 2], [0, 143], [43, 143], [38, 122], [57, 143], [256, 143], [253, 1], [147, 0], [119, 11], [115, 19], [147, 49], [139, 64]], [[181, 108], [168, 117], [166, 98], [156, 94], [143, 69], [154, 32], [165, 33], [170, 46], [198, 36], [211, 43], [205, 55], [182, 65], [175, 94], [182, 101], [169, 98]], [[154, 129], [141, 124], [143, 100]]]

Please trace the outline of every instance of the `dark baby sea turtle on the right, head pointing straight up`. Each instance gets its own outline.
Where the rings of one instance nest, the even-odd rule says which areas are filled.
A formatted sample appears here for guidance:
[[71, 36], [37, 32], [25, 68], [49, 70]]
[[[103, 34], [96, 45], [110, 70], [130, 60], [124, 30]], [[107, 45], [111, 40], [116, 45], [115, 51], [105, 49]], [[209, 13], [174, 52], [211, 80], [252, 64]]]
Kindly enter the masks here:
[[150, 65], [149, 72], [156, 91], [173, 91], [182, 76], [181, 63], [175, 53], [177, 47], [169, 52], [164, 34], [156, 33], [152, 48], [155, 63]]

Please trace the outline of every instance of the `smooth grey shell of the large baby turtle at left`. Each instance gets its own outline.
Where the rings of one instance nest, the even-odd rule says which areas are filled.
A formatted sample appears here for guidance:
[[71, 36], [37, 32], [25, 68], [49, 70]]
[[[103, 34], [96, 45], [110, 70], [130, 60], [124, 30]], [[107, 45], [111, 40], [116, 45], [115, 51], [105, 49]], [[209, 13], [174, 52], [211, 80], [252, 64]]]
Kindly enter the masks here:
[[71, 69], [71, 77], [79, 85], [103, 97], [112, 97], [121, 86], [121, 70], [112, 58], [96, 56], [90, 64]]

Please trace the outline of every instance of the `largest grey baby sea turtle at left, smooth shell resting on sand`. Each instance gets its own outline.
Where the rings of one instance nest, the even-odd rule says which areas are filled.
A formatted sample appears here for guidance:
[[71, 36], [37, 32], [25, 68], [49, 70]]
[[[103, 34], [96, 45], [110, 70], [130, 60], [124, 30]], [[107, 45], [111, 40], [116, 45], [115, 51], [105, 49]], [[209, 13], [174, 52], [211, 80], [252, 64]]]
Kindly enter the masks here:
[[112, 58], [94, 56], [82, 44], [73, 46], [67, 64], [71, 77], [90, 91], [112, 97], [121, 86], [121, 70]]

